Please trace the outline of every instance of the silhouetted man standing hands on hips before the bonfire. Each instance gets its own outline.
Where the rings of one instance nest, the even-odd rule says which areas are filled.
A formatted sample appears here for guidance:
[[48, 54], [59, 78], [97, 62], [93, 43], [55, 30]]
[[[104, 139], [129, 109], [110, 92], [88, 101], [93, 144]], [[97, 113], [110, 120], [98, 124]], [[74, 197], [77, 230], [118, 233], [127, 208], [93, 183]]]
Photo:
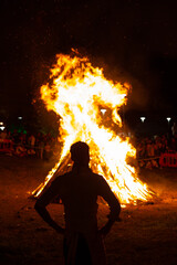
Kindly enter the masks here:
[[[85, 142], [71, 146], [74, 161], [71, 172], [59, 176], [38, 199], [35, 210], [56, 232], [64, 235], [65, 265], [105, 265], [103, 236], [118, 220], [121, 205], [110, 186], [88, 167], [90, 151]], [[107, 223], [97, 227], [97, 197], [110, 206]], [[65, 229], [61, 227], [46, 211], [46, 205], [55, 198], [64, 204]]]

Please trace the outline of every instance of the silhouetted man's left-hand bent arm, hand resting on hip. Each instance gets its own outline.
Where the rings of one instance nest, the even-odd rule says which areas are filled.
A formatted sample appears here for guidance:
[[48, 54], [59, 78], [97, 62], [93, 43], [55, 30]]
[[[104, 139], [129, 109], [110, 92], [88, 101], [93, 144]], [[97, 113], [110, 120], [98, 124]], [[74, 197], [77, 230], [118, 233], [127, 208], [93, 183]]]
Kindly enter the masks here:
[[37, 200], [34, 209], [51, 227], [53, 227], [58, 233], [64, 234], [64, 229], [62, 229], [51, 218], [50, 213], [46, 210], [48, 204], [58, 195], [56, 187], [56, 180], [54, 180], [49, 189]]

